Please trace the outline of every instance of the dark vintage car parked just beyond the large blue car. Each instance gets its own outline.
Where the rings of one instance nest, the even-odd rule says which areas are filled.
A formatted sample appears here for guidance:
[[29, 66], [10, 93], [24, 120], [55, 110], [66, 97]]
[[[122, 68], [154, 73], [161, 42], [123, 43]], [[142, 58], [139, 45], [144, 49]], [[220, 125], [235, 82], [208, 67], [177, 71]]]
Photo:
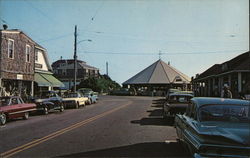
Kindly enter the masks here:
[[171, 93], [163, 104], [163, 117], [174, 117], [176, 114], [184, 114], [188, 103], [193, 98], [188, 93]]

